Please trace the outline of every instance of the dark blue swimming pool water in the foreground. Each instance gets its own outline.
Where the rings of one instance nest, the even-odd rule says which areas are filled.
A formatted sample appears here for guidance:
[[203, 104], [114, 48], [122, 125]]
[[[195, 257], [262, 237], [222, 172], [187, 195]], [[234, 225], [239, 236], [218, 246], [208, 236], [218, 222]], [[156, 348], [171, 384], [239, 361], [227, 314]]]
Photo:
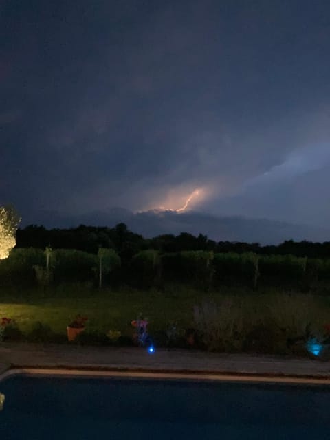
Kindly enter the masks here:
[[15, 376], [0, 392], [8, 440], [330, 438], [326, 386]]

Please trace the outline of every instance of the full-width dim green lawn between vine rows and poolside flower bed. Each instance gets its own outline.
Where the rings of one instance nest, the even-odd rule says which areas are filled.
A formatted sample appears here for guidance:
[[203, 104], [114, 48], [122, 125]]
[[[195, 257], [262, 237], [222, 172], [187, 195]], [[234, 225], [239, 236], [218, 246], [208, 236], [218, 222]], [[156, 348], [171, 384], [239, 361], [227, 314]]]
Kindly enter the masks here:
[[[243, 316], [245, 323], [275, 319], [278, 325], [289, 326], [299, 333], [309, 322], [320, 329], [330, 322], [329, 299], [329, 296], [274, 291], [256, 293], [224, 289], [221, 294], [205, 294], [183, 287], [168, 292], [138, 292], [64, 285], [45, 294], [0, 291], [0, 318], [13, 318], [24, 333], [30, 331], [34, 322], [43, 322], [50, 325], [54, 333], [65, 337], [69, 322], [76, 314], [82, 314], [89, 318], [86, 331], [107, 333], [119, 330], [131, 335], [131, 320], [139, 313], [148, 318], [150, 333], [164, 330], [173, 322], [181, 329], [194, 327], [193, 307], [209, 300], [221, 305], [217, 320], [224, 327], [242, 320]], [[212, 314], [212, 310], [208, 309], [207, 313]]]

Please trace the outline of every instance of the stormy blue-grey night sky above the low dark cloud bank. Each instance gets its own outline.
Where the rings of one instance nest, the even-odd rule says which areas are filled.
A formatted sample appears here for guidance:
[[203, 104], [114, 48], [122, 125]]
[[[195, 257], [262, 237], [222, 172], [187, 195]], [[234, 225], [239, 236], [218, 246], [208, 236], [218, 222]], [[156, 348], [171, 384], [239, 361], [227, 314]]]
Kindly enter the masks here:
[[330, 2], [1, 0], [0, 153], [23, 218], [329, 226]]

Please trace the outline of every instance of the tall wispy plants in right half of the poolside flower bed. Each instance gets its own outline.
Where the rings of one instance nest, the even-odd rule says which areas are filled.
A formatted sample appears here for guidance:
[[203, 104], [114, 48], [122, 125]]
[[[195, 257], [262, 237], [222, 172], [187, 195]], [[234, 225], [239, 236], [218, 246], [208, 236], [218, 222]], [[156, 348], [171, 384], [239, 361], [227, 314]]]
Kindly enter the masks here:
[[289, 353], [288, 340], [322, 334], [330, 308], [303, 294], [222, 296], [195, 305], [194, 322], [210, 351]]

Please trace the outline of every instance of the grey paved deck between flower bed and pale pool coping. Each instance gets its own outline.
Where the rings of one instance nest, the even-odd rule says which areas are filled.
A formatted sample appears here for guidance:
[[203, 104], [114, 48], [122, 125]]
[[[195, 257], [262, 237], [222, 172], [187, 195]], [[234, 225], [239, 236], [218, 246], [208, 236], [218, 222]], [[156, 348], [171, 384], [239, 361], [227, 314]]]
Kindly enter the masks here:
[[157, 349], [155, 353], [148, 354], [146, 350], [135, 347], [66, 344], [1, 344], [0, 375], [10, 368], [226, 373], [330, 379], [330, 361], [177, 349]]

